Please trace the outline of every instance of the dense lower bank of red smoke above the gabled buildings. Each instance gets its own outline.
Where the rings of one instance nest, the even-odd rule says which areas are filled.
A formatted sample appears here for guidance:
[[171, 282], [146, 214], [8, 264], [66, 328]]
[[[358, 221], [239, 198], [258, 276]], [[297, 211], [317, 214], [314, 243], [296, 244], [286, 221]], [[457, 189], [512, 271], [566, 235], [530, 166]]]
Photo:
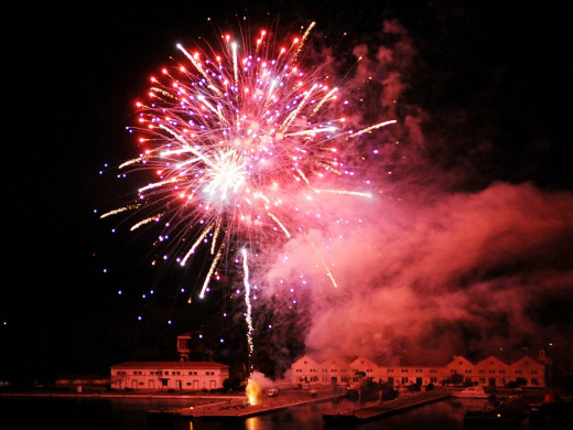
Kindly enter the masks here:
[[[336, 225], [333, 235], [291, 240], [283, 250], [291, 257], [268, 272], [277, 284], [314, 262], [310, 351], [445, 362], [453, 353], [539, 347], [570, 324], [558, 314], [547, 320], [543, 308], [573, 304], [572, 195], [499, 183], [431, 204], [380, 201], [367, 209], [344, 238], [332, 238]], [[327, 249], [337, 288], [315, 248]]]

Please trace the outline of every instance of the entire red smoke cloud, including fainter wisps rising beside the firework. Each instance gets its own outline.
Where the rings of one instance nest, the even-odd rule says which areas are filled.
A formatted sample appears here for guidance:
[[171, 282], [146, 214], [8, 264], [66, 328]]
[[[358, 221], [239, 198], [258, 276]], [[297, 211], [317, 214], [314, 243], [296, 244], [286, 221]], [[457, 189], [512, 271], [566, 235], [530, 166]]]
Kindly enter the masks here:
[[[346, 80], [354, 121], [398, 119], [360, 148], [376, 150], [360, 169], [377, 193], [320, 196], [315, 228], [262, 265], [263, 299], [304, 310], [307, 353], [440, 364], [534, 356], [552, 343], [571, 354], [573, 194], [491, 178], [501, 166], [489, 131], [436, 132], [435, 116], [408, 98], [408, 32], [388, 21], [382, 36], [354, 49]], [[454, 128], [466, 119], [458, 112]]]

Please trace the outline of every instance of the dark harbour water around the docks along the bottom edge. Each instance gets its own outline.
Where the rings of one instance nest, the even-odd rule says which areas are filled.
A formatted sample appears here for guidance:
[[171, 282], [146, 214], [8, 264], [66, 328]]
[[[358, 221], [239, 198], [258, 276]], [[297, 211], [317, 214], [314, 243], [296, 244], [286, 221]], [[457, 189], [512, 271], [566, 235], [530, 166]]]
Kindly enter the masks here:
[[[475, 400], [477, 401], [477, 400]], [[467, 409], [484, 407], [482, 404], [443, 400], [386, 418], [354, 426], [356, 430], [464, 430], [463, 415]], [[86, 399], [86, 398], [12, 398], [0, 397], [0, 429], [2, 430], [259, 430], [259, 429], [336, 429], [323, 421], [323, 413], [344, 410], [349, 400], [304, 405], [266, 413], [239, 421], [148, 420], [148, 410], [186, 407], [185, 399]], [[356, 406], [356, 405], [354, 405]], [[533, 423], [525, 419], [519, 430], [561, 430], [566, 427], [555, 422]]]

